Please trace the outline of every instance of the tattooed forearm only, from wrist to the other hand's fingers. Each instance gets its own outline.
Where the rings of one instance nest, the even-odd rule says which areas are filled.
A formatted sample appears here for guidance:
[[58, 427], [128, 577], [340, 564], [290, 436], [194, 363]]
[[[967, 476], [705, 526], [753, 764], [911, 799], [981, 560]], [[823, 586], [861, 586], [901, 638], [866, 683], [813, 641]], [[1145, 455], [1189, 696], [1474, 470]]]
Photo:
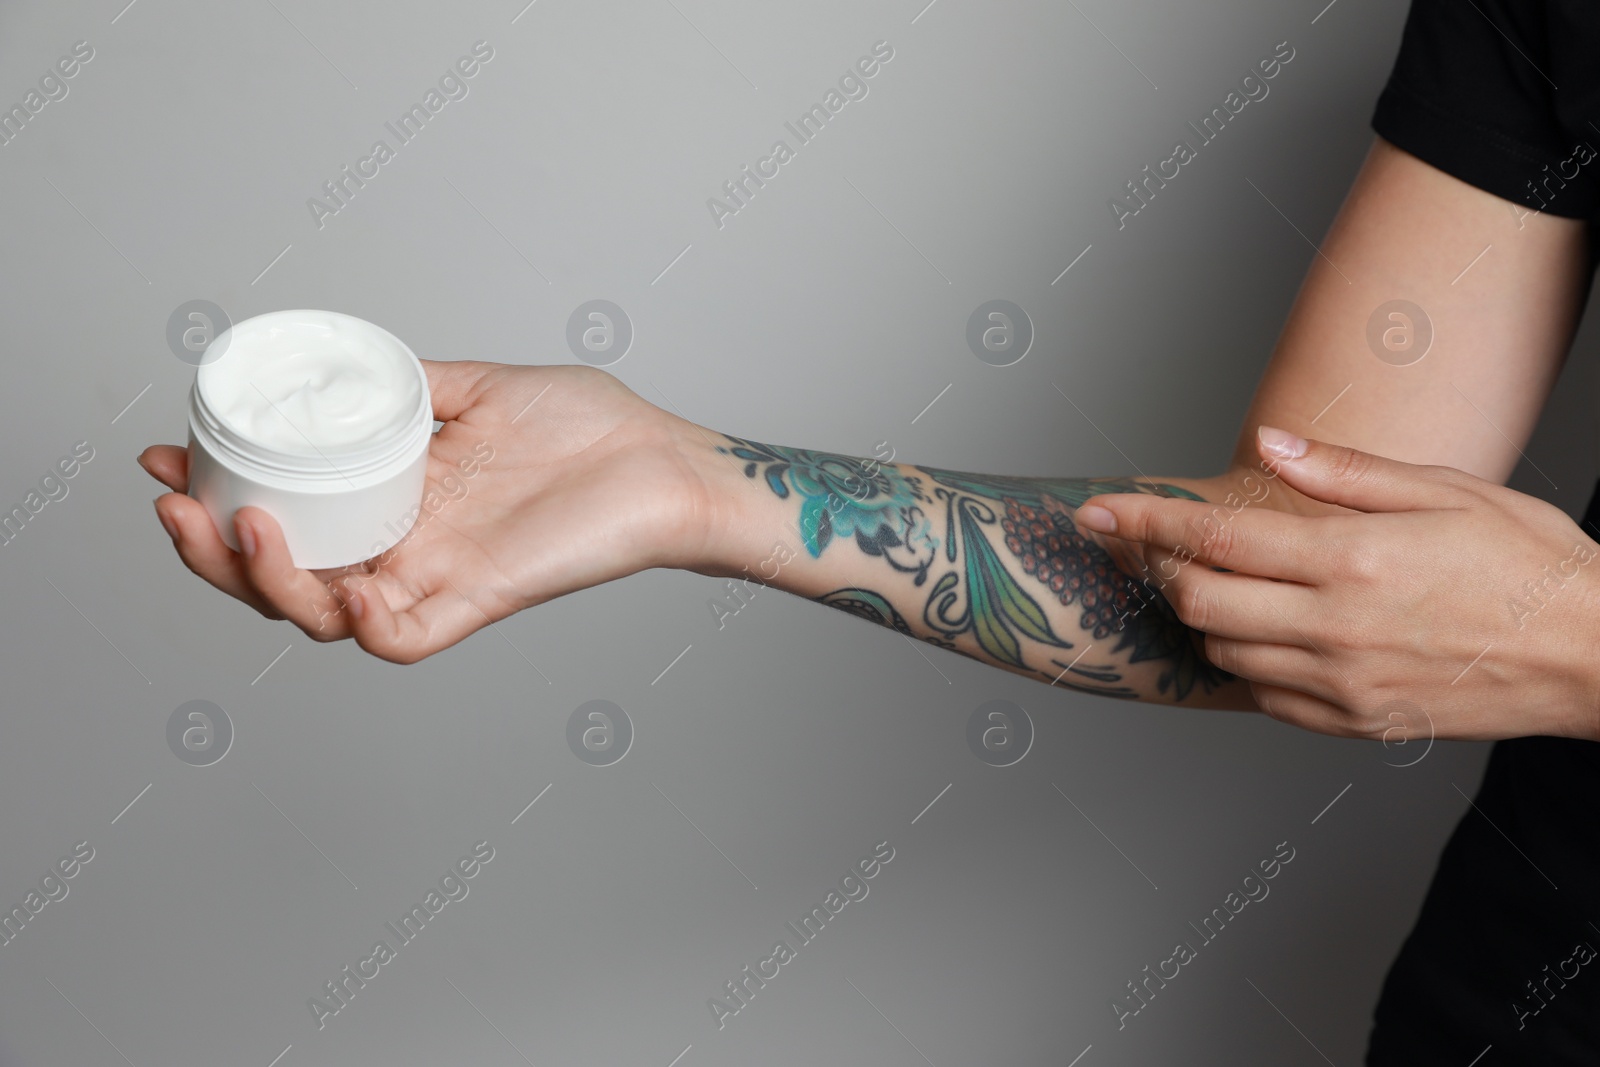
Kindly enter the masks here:
[[[1099, 493], [1203, 501], [1197, 478], [1019, 478], [885, 462], [704, 432], [720, 502], [710, 563], [720, 627], [770, 584], [909, 638], [1085, 693], [1248, 709], [1162, 595], [1072, 522]], [[1250, 478], [1256, 502], [1270, 475]]]

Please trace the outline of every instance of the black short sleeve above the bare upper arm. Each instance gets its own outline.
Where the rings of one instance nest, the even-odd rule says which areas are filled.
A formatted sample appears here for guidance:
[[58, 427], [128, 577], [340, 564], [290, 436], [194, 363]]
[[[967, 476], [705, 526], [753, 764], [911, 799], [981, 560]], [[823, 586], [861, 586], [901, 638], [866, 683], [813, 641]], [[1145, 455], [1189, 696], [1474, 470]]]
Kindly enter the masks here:
[[1594, 0], [1413, 0], [1373, 130], [1496, 197], [1594, 221], [1597, 86]]

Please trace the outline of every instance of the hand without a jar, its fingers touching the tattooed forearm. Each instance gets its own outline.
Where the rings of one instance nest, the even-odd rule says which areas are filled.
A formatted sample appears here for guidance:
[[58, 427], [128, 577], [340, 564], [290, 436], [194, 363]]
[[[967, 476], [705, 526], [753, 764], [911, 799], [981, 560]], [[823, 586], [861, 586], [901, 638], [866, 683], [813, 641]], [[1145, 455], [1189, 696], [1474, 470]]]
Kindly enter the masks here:
[[[1146, 576], [1258, 707], [1342, 736], [1600, 741], [1600, 545], [1451, 467], [1261, 429], [1264, 470], [1341, 514], [1096, 496]], [[1224, 568], [1219, 573], [1213, 568]]]

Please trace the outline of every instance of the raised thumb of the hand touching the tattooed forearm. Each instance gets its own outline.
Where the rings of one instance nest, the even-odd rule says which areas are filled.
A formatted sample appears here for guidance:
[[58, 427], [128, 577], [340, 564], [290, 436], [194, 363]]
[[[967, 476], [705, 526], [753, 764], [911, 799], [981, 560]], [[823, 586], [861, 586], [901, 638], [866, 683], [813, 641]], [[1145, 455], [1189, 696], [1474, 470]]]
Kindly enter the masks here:
[[1410, 512], [1453, 507], [1461, 501], [1459, 486], [1442, 477], [1445, 467], [1422, 467], [1344, 445], [1307, 442], [1270, 426], [1258, 427], [1256, 451], [1291, 488], [1358, 512]]

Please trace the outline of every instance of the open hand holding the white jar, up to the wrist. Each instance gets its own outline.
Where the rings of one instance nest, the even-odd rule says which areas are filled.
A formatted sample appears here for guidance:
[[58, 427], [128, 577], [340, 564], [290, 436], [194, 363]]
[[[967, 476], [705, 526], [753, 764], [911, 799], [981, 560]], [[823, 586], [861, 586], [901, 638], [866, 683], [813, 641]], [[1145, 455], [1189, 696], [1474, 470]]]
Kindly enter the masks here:
[[710, 498], [686, 459], [698, 427], [589, 366], [424, 360], [434, 418], [424, 507], [389, 552], [298, 569], [261, 509], [235, 517], [230, 550], [184, 496], [187, 451], [139, 464], [171, 493], [155, 512], [200, 577], [318, 641], [354, 637], [416, 662], [522, 608], [651, 566], [702, 563]]

